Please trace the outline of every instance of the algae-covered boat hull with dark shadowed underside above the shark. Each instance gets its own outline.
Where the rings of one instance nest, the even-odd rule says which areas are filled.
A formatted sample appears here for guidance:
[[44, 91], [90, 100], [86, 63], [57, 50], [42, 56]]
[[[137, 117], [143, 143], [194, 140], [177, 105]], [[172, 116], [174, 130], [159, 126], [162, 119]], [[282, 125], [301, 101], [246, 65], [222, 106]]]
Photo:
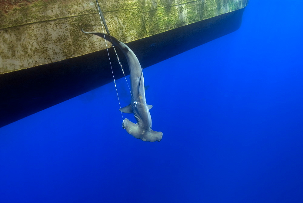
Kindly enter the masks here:
[[[247, 3], [99, 1], [111, 34], [143, 68], [235, 31]], [[11, 0], [0, 8], [0, 126], [112, 81], [104, 41], [81, 32], [102, 32], [95, 1]]]

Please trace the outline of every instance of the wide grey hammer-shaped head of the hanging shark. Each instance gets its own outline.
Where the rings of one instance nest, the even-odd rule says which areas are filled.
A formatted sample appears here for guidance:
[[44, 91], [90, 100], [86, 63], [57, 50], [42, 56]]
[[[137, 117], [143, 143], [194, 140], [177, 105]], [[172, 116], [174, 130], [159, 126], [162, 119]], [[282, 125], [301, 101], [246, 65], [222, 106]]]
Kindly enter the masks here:
[[152, 129], [148, 129], [145, 131], [141, 129], [138, 124], [135, 124], [128, 119], [124, 119], [122, 127], [126, 129], [126, 131], [135, 138], [142, 139], [143, 141], [148, 142], [160, 142], [163, 135], [162, 132], [153, 131]]

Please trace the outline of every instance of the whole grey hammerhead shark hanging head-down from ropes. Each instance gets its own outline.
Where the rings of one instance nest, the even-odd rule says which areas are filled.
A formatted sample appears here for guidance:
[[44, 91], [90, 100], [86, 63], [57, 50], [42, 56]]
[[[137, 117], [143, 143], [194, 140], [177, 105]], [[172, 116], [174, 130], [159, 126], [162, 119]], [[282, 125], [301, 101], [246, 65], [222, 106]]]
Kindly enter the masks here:
[[119, 110], [123, 113], [133, 113], [137, 123], [135, 124], [128, 119], [124, 119], [122, 127], [137, 139], [149, 142], [160, 142], [163, 133], [151, 129], [151, 115], [149, 109], [152, 108], [152, 105], [146, 104], [142, 67], [135, 53], [126, 44], [120, 42], [111, 35], [104, 33], [87, 33], [83, 29], [82, 32], [94, 34], [105, 40], [111, 41], [114, 46], [118, 46], [119, 49], [122, 50], [127, 59], [130, 71], [132, 98], [129, 105], [120, 108]]

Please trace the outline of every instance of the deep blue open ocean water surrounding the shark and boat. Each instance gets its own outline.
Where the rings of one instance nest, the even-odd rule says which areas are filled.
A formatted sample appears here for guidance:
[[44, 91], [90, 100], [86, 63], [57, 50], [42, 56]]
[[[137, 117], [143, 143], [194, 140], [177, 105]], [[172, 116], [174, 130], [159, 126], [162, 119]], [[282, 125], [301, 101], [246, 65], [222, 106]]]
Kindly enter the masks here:
[[303, 202], [302, 7], [251, 0], [144, 69], [159, 143], [122, 129], [113, 83], [0, 128], [0, 202]]

